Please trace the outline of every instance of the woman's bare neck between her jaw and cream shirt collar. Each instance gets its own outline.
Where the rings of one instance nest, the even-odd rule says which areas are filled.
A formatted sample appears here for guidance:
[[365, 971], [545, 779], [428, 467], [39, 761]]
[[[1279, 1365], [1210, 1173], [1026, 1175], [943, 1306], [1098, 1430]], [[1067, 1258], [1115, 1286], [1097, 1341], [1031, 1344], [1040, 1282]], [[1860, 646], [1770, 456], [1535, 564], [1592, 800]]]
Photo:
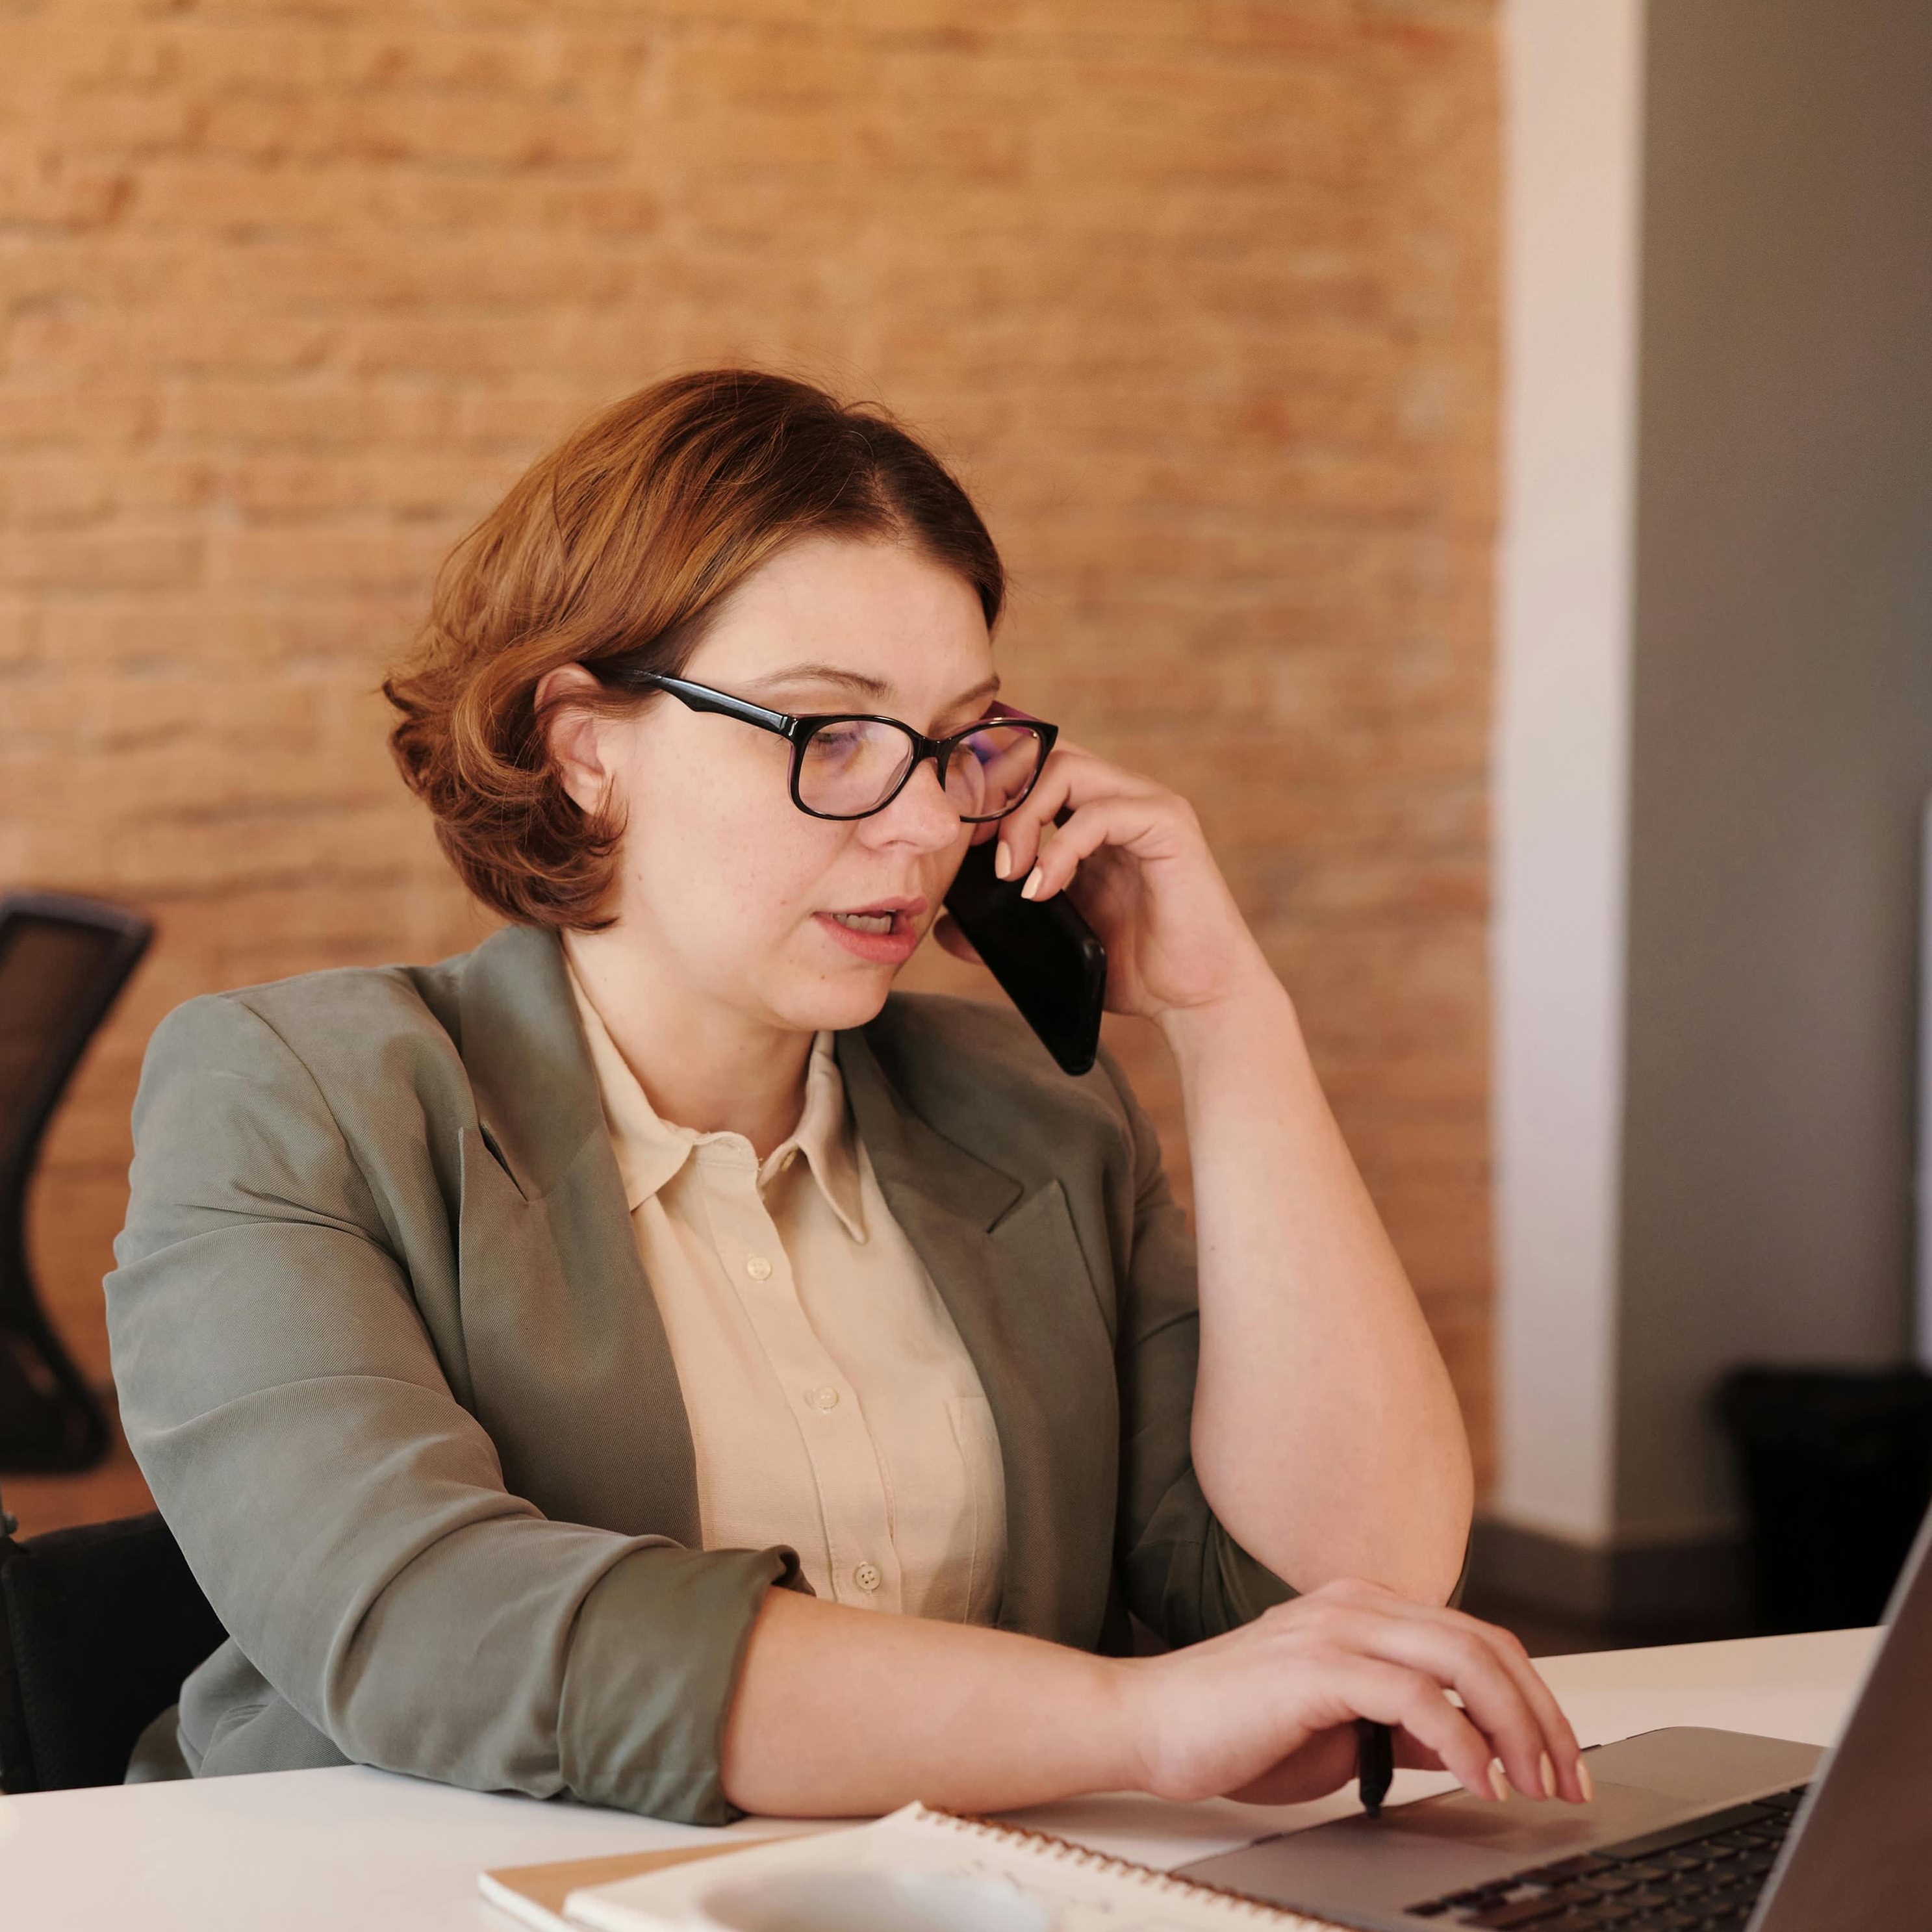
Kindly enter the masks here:
[[564, 952], [661, 1121], [744, 1134], [763, 1159], [806, 1103], [811, 1034], [761, 1026], [667, 983], [618, 933], [566, 933]]

